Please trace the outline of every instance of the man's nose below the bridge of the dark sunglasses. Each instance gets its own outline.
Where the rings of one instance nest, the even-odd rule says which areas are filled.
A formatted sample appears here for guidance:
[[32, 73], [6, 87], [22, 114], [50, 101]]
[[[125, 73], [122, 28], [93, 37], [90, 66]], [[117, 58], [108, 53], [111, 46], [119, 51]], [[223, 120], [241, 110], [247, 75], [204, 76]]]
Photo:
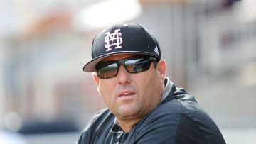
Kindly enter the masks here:
[[119, 84], [129, 84], [131, 82], [130, 74], [127, 72], [123, 65], [120, 65], [119, 67], [117, 78], [119, 80]]

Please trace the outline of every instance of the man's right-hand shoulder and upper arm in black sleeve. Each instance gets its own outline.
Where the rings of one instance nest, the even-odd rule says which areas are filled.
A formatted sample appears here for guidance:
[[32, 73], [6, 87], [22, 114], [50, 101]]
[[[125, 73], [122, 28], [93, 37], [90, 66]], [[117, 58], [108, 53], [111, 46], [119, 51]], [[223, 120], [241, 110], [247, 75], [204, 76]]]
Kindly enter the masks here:
[[161, 143], [225, 143], [210, 116], [184, 97], [159, 105], [138, 123], [137, 132], [138, 140]]

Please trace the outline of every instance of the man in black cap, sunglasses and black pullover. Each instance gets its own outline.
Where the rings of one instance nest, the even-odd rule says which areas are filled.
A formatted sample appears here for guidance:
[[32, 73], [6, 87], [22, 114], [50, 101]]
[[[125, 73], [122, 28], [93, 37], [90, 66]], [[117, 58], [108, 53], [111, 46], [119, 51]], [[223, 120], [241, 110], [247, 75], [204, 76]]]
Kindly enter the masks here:
[[95, 36], [92, 60], [97, 90], [108, 109], [88, 123], [78, 144], [225, 143], [196, 100], [166, 77], [159, 43], [137, 23], [118, 23]]

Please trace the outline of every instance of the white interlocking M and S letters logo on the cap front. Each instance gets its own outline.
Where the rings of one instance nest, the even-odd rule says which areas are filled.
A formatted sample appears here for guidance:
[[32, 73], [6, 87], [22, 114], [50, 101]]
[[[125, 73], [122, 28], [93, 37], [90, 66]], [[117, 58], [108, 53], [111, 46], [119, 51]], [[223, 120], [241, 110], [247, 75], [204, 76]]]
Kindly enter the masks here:
[[120, 29], [114, 30], [114, 33], [107, 32], [105, 36], [105, 48], [106, 52], [112, 50], [112, 48], [122, 48], [122, 33]]

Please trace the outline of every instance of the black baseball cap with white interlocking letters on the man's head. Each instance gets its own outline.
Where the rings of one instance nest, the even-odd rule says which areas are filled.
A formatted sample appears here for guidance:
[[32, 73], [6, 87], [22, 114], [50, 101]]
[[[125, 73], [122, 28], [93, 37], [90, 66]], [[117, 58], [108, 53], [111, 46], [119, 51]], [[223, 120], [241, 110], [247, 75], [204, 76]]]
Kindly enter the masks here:
[[105, 28], [92, 41], [92, 60], [83, 67], [94, 72], [98, 62], [110, 55], [135, 53], [161, 59], [159, 43], [154, 35], [138, 23], [117, 23]]

